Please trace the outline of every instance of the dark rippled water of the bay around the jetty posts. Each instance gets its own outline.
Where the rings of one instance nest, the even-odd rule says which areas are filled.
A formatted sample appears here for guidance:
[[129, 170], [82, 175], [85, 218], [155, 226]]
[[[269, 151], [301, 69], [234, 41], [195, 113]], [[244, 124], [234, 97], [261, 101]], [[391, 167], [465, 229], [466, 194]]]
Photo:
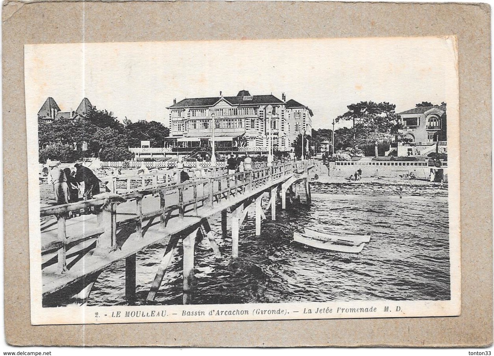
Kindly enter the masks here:
[[[242, 225], [239, 259], [231, 239], [221, 239], [219, 216], [211, 219], [222, 253], [215, 259], [206, 241], [195, 255], [193, 304], [324, 302], [348, 300], [448, 300], [450, 263], [447, 191], [430, 186], [385, 184], [312, 185], [310, 207], [278, 211], [262, 222]], [[334, 195], [336, 194], [336, 195]], [[306, 248], [292, 242], [303, 226], [328, 224], [346, 231], [369, 231], [360, 254]], [[230, 228], [230, 226], [228, 226]], [[229, 231], [230, 235], [230, 231]], [[165, 250], [157, 244], [137, 254], [136, 304], [144, 304]], [[182, 304], [181, 244], [165, 274], [156, 304]], [[88, 305], [124, 305], [124, 261], [105, 270]]]

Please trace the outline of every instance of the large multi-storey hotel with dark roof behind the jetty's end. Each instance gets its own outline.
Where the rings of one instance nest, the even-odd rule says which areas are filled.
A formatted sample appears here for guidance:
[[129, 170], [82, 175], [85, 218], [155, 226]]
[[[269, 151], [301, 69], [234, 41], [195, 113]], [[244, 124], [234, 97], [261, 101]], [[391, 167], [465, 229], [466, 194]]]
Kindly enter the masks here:
[[[268, 110], [272, 108], [271, 114]], [[269, 125], [275, 150], [289, 151], [295, 138], [312, 132], [312, 110], [295, 100], [273, 94], [173, 100], [169, 110], [170, 136], [165, 152], [206, 151], [211, 147], [212, 121], [219, 153], [267, 153]], [[268, 110], [267, 110], [268, 109]], [[156, 155], [155, 155], [156, 156]]]

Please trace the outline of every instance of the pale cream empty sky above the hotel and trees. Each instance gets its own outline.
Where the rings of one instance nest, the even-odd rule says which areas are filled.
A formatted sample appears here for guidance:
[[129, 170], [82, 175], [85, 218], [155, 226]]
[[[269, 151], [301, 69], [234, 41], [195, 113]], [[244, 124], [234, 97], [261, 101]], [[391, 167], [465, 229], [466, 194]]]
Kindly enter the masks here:
[[174, 98], [245, 89], [285, 92], [312, 109], [315, 129], [331, 128], [351, 103], [400, 112], [452, 100], [455, 61], [452, 39], [439, 37], [26, 45], [26, 113], [35, 123], [48, 96], [62, 111], [87, 97], [120, 120], [167, 125]]

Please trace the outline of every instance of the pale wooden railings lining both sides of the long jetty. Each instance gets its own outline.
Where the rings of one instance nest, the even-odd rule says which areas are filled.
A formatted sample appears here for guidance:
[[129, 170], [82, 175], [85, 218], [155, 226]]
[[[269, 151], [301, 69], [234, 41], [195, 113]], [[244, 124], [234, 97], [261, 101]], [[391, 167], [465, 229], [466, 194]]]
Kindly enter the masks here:
[[[208, 214], [217, 213], [218, 209], [226, 209], [229, 204], [223, 204], [225, 202], [244, 201], [254, 195], [258, 197], [263, 191], [269, 191], [272, 195], [273, 186], [281, 186], [283, 182], [293, 179], [294, 175], [307, 172], [313, 165], [312, 161], [300, 161], [233, 174], [217, 171], [216, 173], [219, 173], [217, 175], [193, 178], [183, 183], [177, 181], [177, 172], [171, 171], [103, 179], [107, 186], [110, 186], [108, 193], [99, 194], [90, 200], [41, 208], [41, 217], [56, 217], [56, 238], [53, 238], [54, 232], [51, 230], [51, 241], [44, 239], [45, 243], [41, 246], [42, 256], [49, 258], [54, 254], [56, 258], [51, 257], [48, 260], [45, 258], [41, 269], [50, 267], [50, 271], [55, 275], [63, 275], [68, 270], [67, 251], [84, 241], [95, 240], [93, 255], [107, 258], [116, 251], [117, 230], [124, 224], [135, 223], [137, 239], [140, 240], [143, 239], [143, 222], [146, 220], [159, 217], [160, 227], [163, 229], [171, 217], [179, 220], [183, 220], [185, 216], [196, 217], [199, 218], [197, 221], [200, 221]], [[160, 198], [159, 209], [143, 212], [142, 202], [148, 196]], [[136, 202], [135, 213], [125, 213], [125, 216], [117, 221], [118, 206], [128, 201]], [[128, 208], [128, 204], [126, 206]], [[94, 219], [92, 224], [77, 220], [81, 218], [75, 217], [74, 213], [81, 212], [82, 209], [92, 209], [97, 216], [97, 223]], [[272, 209], [274, 211], [274, 207]], [[76, 232], [68, 234], [67, 222], [71, 219], [76, 219], [75, 224], [80, 223], [81, 228], [71, 226]], [[184, 223], [183, 228], [186, 227]], [[43, 229], [41, 235], [43, 236]], [[54, 264], [56, 268], [53, 268]], [[61, 287], [57, 285], [53, 288]], [[43, 287], [43, 295], [53, 292], [53, 288]]]

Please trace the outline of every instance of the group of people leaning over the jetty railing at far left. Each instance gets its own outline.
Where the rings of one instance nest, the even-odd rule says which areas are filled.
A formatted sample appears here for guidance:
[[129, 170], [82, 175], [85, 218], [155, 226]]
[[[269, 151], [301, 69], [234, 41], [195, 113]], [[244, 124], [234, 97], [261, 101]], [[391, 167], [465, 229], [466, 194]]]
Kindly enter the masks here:
[[[57, 204], [74, 203], [91, 199], [100, 193], [101, 180], [81, 162], [74, 165], [75, 171], [69, 167], [60, 168], [60, 161], [48, 161], [48, 181], [53, 185], [53, 193]], [[82, 194], [81, 194], [82, 193]]]

